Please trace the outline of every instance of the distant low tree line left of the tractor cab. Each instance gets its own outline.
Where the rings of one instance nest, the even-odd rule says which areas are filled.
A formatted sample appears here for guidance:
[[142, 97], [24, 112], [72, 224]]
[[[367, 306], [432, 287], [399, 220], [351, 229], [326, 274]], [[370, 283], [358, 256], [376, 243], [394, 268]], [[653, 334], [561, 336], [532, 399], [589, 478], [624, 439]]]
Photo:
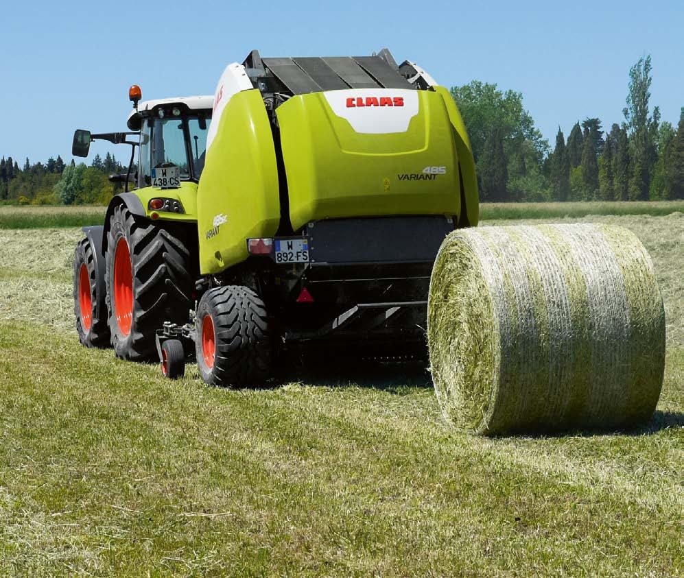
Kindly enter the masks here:
[[61, 156], [43, 162], [28, 158], [19, 168], [12, 157], [0, 159], [0, 203], [56, 205], [108, 204], [121, 189], [108, 176], [126, 170], [110, 153], [95, 155], [90, 166], [73, 160], [65, 165]]

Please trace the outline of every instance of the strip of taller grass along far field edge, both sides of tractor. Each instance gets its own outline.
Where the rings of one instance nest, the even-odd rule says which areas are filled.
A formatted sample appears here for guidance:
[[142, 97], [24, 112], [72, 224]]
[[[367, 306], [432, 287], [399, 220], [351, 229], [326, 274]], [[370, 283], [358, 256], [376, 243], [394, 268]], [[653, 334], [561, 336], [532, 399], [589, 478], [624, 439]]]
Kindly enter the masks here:
[[[0, 206], [0, 229], [66, 228], [102, 224], [102, 206]], [[480, 219], [552, 219], [587, 215], [670, 215], [684, 213], [684, 201], [482, 203]]]

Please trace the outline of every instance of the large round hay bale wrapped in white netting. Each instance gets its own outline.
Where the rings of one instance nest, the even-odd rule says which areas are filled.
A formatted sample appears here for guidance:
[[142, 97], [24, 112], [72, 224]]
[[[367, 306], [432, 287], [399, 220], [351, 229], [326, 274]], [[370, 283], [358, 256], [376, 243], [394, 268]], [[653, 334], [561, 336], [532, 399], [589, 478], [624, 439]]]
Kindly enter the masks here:
[[620, 227], [451, 233], [427, 335], [440, 406], [475, 433], [633, 426], [663, 383], [663, 300], [646, 249]]

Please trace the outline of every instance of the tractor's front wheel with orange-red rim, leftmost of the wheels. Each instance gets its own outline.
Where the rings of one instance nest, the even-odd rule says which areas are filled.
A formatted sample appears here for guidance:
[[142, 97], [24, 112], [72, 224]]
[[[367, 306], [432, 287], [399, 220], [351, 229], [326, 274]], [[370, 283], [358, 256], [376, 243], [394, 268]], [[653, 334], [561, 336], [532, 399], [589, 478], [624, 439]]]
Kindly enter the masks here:
[[[84, 293], [81, 292], [82, 282]], [[99, 298], [93, 248], [88, 239], [83, 239], [73, 252], [73, 314], [78, 340], [86, 347], [109, 346], [107, 312], [97, 306]]]

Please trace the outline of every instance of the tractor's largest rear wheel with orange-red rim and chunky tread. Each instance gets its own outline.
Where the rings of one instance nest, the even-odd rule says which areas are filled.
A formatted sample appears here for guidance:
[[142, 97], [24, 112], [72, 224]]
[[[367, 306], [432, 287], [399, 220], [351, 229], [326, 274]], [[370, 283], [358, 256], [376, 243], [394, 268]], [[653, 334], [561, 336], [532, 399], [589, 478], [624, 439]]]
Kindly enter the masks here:
[[[121, 241], [126, 244], [119, 245]], [[121, 261], [117, 261], [119, 246]], [[126, 254], [130, 265], [123, 261]], [[120, 272], [130, 269], [130, 285], [118, 285], [127, 285], [128, 293], [115, 291], [119, 262]], [[152, 360], [158, 357], [155, 331], [163, 322], [188, 322], [193, 290], [190, 270], [190, 253], [182, 239], [162, 224], [135, 217], [125, 205], [115, 207], [107, 232], [106, 287], [108, 324], [117, 357]]]

